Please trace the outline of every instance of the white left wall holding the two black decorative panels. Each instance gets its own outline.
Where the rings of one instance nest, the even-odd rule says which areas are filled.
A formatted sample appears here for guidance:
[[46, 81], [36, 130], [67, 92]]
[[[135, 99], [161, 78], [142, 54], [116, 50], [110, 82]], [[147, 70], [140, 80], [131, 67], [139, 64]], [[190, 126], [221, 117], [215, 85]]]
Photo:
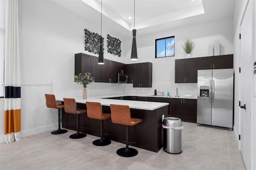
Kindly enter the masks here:
[[[19, 1], [19, 29], [21, 83], [52, 83], [50, 87], [21, 87], [21, 134], [28, 136], [58, 127], [58, 111], [46, 108], [45, 93], [61, 95], [62, 89], [66, 97], [82, 97], [82, 85], [75, 90], [78, 84], [74, 83], [74, 54], [88, 53], [84, 51], [84, 29], [99, 33], [100, 27], [49, 1], [24, 0]], [[104, 57], [124, 63], [124, 55], [118, 57], [106, 51], [107, 34], [122, 41], [124, 53], [124, 40], [103, 28]], [[123, 94], [123, 89], [124, 85], [93, 83], [88, 93], [89, 96]], [[3, 117], [0, 114], [0, 119]], [[3, 135], [0, 131], [1, 139]]]

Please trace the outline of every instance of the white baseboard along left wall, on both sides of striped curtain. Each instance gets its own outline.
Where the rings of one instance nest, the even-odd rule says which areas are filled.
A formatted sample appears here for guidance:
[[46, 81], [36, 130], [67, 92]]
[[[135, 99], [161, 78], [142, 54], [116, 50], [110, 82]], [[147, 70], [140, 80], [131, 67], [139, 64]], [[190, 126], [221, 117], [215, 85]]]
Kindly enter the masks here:
[[[54, 130], [57, 128], [58, 128], [58, 123], [53, 124], [53, 125], [44, 126], [44, 127], [33, 128], [33, 129], [29, 129], [29, 130], [23, 130], [23, 131], [20, 131], [20, 134], [21, 134], [21, 138], [23, 138], [23, 137], [31, 136], [34, 134], [47, 132], [49, 130]], [[4, 143], [4, 142], [5, 142], [4, 135], [2, 135], [2, 136], [0, 136], [0, 143]]]

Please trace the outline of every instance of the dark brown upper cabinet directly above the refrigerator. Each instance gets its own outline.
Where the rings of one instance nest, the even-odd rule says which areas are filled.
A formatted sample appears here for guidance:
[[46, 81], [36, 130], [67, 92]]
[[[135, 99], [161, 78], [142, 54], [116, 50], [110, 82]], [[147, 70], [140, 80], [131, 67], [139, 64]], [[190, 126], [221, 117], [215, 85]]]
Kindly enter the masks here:
[[232, 68], [233, 68], [233, 54], [198, 58], [198, 70], [232, 69]]

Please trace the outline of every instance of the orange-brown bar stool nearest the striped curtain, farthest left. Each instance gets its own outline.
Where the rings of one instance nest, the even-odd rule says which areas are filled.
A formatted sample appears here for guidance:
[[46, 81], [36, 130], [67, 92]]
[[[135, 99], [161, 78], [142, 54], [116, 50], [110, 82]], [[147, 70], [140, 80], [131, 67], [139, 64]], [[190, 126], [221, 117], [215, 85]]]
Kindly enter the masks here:
[[54, 130], [51, 134], [63, 134], [68, 132], [68, 130], [60, 129], [60, 122], [64, 122], [60, 118], [60, 110], [64, 108], [64, 105], [56, 105], [56, 99], [54, 95], [45, 94], [46, 106], [48, 108], [58, 109], [58, 130]]

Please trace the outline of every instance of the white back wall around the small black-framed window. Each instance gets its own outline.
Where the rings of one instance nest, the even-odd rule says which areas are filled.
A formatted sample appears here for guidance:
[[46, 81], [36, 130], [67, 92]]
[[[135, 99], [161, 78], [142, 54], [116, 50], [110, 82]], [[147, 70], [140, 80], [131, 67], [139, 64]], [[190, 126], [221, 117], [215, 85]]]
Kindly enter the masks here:
[[[176, 95], [176, 88], [179, 94], [197, 95], [196, 83], [174, 83], [174, 66], [175, 59], [182, 59], [186, 57], [186, 53], [182, 49], [182, 43], [186, 38], [192, 38], [196, 43], [192, 57], [205, 57], [208, 55], [208, 45], [214, 40], [220, 40], [220, 44], [224, 46], [221, 54], [233, 53], [233, 34], [232, 34], [233, 20], [226, 18], [214, 22], [207, 22], [203, 24], [196, 24], [183, 28], [168, 30], [165, 32], [158, 32], [155, 34], [140, 36], [140, 30], [137, 30], [136, 41], [138, 51], [138, 61], [152, 62], [152, 88], [132, 88], [131, 85], [126, 86], [126, 93], [141, 93], [154, 94], [154, 89], [158, 91], [170, 91], [170, 95]], [[155, 39], [175, 36], [175, 56], [155, 58]], [[132, 38], [127, 38], [125, 43], [126, 49], [126, 63], [134, 63], [130, 60]]]

